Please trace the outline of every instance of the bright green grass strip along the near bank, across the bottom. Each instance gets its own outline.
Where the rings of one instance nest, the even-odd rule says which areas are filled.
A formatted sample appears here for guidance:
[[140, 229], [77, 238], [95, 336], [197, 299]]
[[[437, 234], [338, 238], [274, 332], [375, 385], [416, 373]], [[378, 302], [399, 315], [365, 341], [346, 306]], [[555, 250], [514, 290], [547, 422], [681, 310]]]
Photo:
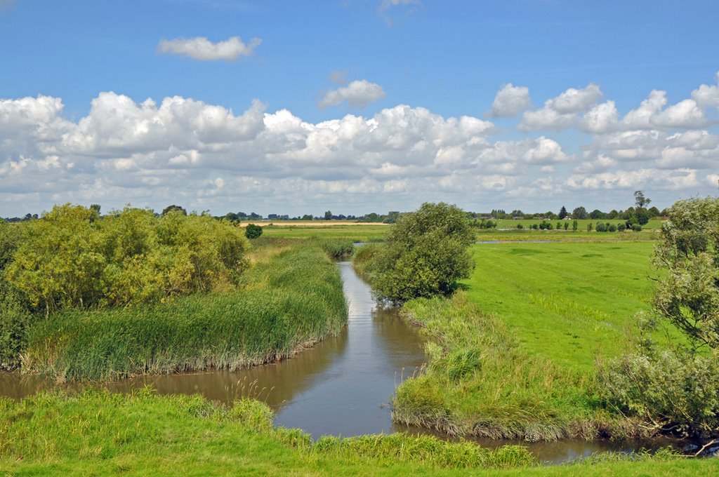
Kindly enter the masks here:
[[228, 408], [147, 389], [0, 399], [0, 471], [8, 476], [707, 475], [718, 464], [663, 455], [540, 468], [517, 446], [401, 434], [311, 443], [300, 430], [274, 427], [257, 401]]

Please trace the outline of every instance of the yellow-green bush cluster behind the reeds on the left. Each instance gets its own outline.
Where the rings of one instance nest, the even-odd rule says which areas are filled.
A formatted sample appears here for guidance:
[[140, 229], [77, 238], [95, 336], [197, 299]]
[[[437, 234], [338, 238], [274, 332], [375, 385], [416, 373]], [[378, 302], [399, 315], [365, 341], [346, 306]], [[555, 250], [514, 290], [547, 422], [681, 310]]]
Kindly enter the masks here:
[[242, 230], [209, 216], [56, 205], [22, 226], [4, 270], [34, 310], [157, 302], [237, 282], [248, 249]]

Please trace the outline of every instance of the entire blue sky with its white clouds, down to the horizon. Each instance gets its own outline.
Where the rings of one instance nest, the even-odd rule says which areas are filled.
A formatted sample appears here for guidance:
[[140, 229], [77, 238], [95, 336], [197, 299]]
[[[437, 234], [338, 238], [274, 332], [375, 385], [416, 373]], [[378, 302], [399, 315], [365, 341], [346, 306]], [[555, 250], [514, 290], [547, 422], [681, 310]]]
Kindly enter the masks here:
[[[0, 215], [714, 194], [718, 18], [713, 1], [0, 0]], [[520, 106], [496, 103], [508, 83]]]

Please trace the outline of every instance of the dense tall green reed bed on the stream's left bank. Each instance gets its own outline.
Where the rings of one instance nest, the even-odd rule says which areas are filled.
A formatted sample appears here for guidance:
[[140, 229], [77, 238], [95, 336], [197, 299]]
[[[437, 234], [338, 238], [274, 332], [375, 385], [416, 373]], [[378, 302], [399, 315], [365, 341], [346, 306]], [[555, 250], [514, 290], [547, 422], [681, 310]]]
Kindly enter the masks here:
[[238, 369], [291, 356], [347, 320], [339, 272], [317, 244], [260, 251], [240, 290], [148, 307], [66, 310], [28, 332], [23, 371], [116, 379], [194, 369]]

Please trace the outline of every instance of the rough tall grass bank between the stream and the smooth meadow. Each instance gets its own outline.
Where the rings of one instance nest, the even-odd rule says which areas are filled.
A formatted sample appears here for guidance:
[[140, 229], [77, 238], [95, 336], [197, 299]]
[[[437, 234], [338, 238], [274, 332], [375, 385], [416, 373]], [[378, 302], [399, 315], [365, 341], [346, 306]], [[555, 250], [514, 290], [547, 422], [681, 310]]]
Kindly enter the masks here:
[[411, 300], [403, 314], [431, 338], [430, 364], [398, 387], [396, 422], [527, 441], [639, 432], [601, 406], [591, 376], [523, 353], [504, 323], [478, 310], [466, 292]]

